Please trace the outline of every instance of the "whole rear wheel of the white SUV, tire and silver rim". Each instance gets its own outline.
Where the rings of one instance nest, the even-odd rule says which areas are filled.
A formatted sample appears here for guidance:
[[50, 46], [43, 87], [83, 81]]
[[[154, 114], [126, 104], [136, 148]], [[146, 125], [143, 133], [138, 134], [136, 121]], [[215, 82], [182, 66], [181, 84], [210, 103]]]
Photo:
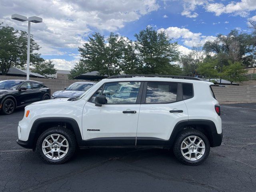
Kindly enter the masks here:
[[188, 165], [198, 165], [206, 160], [210, 153], [207, 137], [195, 129], [183, 130], [173, 148], [178, 160]]

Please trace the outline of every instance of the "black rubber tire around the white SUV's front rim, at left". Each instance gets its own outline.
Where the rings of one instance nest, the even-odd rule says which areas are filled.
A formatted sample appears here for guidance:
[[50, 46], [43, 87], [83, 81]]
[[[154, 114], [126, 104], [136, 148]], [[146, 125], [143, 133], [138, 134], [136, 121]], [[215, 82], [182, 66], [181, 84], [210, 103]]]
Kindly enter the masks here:
[[[68, 141], [68, 151], [65, 156], [62, 158], [55, 160], [55, 159], [50, 159], [46, 155], [44, 155], [43, 149], [42, 149], [42, 144], [45, 138], [50, 136], [51, 134], [60, 134], [66, 138]], [[76, 151], [76, 137], [74, 136], [74, 133], [67, 128], [58, 126], [58, 127], [52, 127], [47, 130], [45, 130], [38, 138], [37, 143], [36, 143], [36, 152], [40, 156], [40, 158], [48, 163], [48, 164], [62, 164], [74, 155]]]

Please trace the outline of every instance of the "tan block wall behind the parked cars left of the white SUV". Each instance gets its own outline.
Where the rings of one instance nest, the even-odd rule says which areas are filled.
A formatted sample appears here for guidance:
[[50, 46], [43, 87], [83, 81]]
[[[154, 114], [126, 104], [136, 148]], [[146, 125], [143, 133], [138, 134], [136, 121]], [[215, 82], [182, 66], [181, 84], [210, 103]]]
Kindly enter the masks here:
[[[26, 79], [26, 77], [16, 77], [16, 76], [1, 76], [1, 80], [8, 79]], [[71, 85], [74, 82], [80, 82], [83, 80], [62, 80], [62, 79], [47, 79], [47, 78], [30, 78], [30, 80], [39, 81], [45, 84], [48, 88], [51, 89], [51, 93], [53, 94], [56, 91], [64, 90], [65, 87]]]

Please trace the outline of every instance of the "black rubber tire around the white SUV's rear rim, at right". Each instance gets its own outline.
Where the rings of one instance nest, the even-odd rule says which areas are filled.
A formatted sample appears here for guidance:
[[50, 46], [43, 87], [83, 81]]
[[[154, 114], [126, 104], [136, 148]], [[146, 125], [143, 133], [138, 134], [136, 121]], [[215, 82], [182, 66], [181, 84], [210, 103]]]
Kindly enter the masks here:
[[[182, 152], [181, 152], [182, 142], [189, 136], [197, 136], [200, 139], [202, 139], [204, 142], [204, 145], [205, 145], [204, 154], [198, 160], [188, 160], [182, 155]], [[173, 147], [173, 152], [174, 152], [174, 155], [176, 156], [176, 158], [178, 160], [180, 160], [181, 162], [183, 162], [184, 164], [198, 165], [207, 159], [207, 157], [210, 153], [210, 143], [209, 143], [208, 138], [202, 132], [195, 130], [195, 129], [186, 129], [186, 130], [183, 130], [182, 132], [180, 132], [180, 134], [176, 138], [176, 141], [175, 141], [174, 147]], [[194, 154], [194, 156], [195, 156], [195, 154]]]

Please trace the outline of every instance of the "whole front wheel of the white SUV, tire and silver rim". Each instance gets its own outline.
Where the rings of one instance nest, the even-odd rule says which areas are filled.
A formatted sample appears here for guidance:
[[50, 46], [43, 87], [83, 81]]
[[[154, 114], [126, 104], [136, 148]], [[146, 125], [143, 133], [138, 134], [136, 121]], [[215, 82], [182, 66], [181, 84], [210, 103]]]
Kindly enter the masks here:
[[64, 127], [52, 127], [38, 138], [36, 152], [44, 162], [61, 164], [69, 160], [76, 151], [76, 139], [72, 131]]

